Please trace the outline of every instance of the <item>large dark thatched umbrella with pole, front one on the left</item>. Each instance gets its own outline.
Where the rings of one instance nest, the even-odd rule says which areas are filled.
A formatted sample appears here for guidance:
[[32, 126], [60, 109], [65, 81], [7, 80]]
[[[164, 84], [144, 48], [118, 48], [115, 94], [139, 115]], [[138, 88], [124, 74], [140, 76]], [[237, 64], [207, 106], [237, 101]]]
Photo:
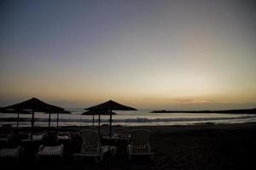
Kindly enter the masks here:
[[[55, 105], [49, 105], [47, 103], [44, 103], [40, 99], [32, 98], [28, 99], [24, 102], [15, 104], [15, 105], [9, 105], [7, 107], [4, 107], [5, 109], [13, 109], [16, 111], [21, 111], [21, 110], [30, 110], [32, 111], [32, 120], [31, 120], [31, 127], [32, 131], [31, 133], [33, 134], [33, 128], [34, 128], [34, 112], [57, 112], [57, 111], [64, 111], [63, 108], [55, 106]], [[31, 140], [32, 140], [32, 135], [31, 135]]]

